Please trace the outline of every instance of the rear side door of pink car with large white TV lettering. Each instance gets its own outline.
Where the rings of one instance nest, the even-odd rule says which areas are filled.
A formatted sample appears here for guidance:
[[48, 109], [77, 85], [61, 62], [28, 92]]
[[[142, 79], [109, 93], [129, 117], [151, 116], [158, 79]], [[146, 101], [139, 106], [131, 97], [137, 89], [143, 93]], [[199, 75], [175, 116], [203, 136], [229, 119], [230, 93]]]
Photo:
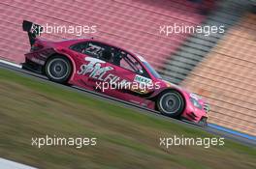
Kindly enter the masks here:
[[97, 84], [103, 80], [103, 76], [112, 68], [106, 67], [106, 61], [102, 57], [106, 45], [100, 42], [80, 42], [71, 46], [76, 52], [76, 84], [83, 88], [97, 90]]

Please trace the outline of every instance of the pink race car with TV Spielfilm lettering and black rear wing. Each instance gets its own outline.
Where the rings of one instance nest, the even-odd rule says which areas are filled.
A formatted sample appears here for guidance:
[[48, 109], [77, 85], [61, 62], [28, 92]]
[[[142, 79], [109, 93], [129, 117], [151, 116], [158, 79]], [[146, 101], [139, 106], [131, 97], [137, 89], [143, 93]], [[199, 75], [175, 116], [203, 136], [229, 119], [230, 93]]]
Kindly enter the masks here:
[[23, 69], [207, 126], [208, 103], [164, 80], [142, 55], [94, 39], [47, 41], [38, 36], [40, 25], [24, 20], [22, 27], [31, 44]]

